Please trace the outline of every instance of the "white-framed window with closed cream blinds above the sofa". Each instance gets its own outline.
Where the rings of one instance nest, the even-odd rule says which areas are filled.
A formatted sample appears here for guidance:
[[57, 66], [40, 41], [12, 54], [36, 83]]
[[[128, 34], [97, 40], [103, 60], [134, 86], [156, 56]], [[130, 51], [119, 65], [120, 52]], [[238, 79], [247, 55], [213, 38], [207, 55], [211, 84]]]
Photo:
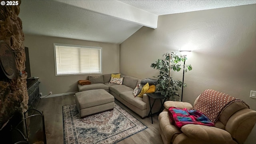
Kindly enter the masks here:
[[54, 44], [55, 75], [102, 73], [102, 48]]

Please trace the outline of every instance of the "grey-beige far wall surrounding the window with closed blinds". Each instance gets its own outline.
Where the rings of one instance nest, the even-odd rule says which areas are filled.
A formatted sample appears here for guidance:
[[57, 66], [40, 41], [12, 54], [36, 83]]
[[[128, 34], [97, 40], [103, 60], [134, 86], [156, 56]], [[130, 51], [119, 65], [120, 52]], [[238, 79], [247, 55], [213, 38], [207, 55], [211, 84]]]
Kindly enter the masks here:
[[39, 89], [43, 96], [48, 95], [50, 91], [52, 94], [77, 92], [78, 80], [85, 80], [88, 77], [88, 75], [55, 76], [53, 43], [102, 47], [102, 73], [119, 72], [118, 44], [28, 34], [24, 37], [24, 46], [29, 50], [31, 76], [40, 78]]

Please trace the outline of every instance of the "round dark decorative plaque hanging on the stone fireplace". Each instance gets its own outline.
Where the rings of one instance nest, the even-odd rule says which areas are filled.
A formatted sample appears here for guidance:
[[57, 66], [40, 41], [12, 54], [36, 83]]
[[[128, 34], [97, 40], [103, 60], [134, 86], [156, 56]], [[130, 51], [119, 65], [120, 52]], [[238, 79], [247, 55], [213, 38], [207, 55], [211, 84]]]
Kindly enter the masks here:
[[16, 72], [15, 57], [10, 46], [3, 40], [0, 41], [0, 66], [0, 77], [4, 75], [9, 79], [14, 77]]

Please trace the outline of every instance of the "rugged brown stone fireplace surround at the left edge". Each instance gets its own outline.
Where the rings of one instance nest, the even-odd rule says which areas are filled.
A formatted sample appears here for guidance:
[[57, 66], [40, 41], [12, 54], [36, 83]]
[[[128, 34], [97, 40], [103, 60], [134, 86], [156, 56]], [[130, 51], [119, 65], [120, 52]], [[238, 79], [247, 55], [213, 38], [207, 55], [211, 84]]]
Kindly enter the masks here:
[[[18, 3], [20, 5], [21, 0], [18, 0]], [[15, 124], [22, 120], [23, 112], [28, 109], [27, 75], [26, 72], [23, 72], [26, 55], [23, 45], [22, 21], [18, 17], [19, 5], [0, 6], [0, 40], [10, 46], [16, 59], [14, 78], [0, 79], [0, 134], [5, 133], [4, 130], [10, 127], [10, 123]]]

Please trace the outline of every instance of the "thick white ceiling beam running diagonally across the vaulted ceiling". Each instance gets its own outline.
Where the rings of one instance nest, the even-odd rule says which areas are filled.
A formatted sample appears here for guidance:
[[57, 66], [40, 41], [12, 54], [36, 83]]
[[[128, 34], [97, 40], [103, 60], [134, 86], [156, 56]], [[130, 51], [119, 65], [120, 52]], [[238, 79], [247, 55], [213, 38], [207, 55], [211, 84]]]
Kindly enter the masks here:
[[118, 0], [55, 0], [92, 12], [118, 18], [150, 28], [157, 28], [158, 15], [130, 6]]

